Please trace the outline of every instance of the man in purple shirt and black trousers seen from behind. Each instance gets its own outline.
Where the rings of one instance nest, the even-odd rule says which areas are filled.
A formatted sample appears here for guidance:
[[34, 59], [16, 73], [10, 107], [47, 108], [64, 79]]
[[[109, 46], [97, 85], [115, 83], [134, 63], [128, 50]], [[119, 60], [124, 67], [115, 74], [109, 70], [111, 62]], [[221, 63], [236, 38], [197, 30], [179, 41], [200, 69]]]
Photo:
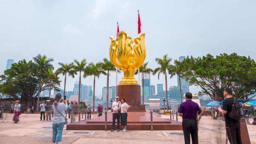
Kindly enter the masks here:
[[185, 144], [190, 144], [190, 135], [192, 144], [198, 144], [198, 129], [197, 129], [197, 113], [200, 113], [198, 121], [201, 119], [202, 111], [199, 105], [193, 102], [192, 94], [187, 92], [185, 94], [186, 101], [182, 102], [179, 107], [178, 114], [182, 116], [182, 128], [185, 139]]

